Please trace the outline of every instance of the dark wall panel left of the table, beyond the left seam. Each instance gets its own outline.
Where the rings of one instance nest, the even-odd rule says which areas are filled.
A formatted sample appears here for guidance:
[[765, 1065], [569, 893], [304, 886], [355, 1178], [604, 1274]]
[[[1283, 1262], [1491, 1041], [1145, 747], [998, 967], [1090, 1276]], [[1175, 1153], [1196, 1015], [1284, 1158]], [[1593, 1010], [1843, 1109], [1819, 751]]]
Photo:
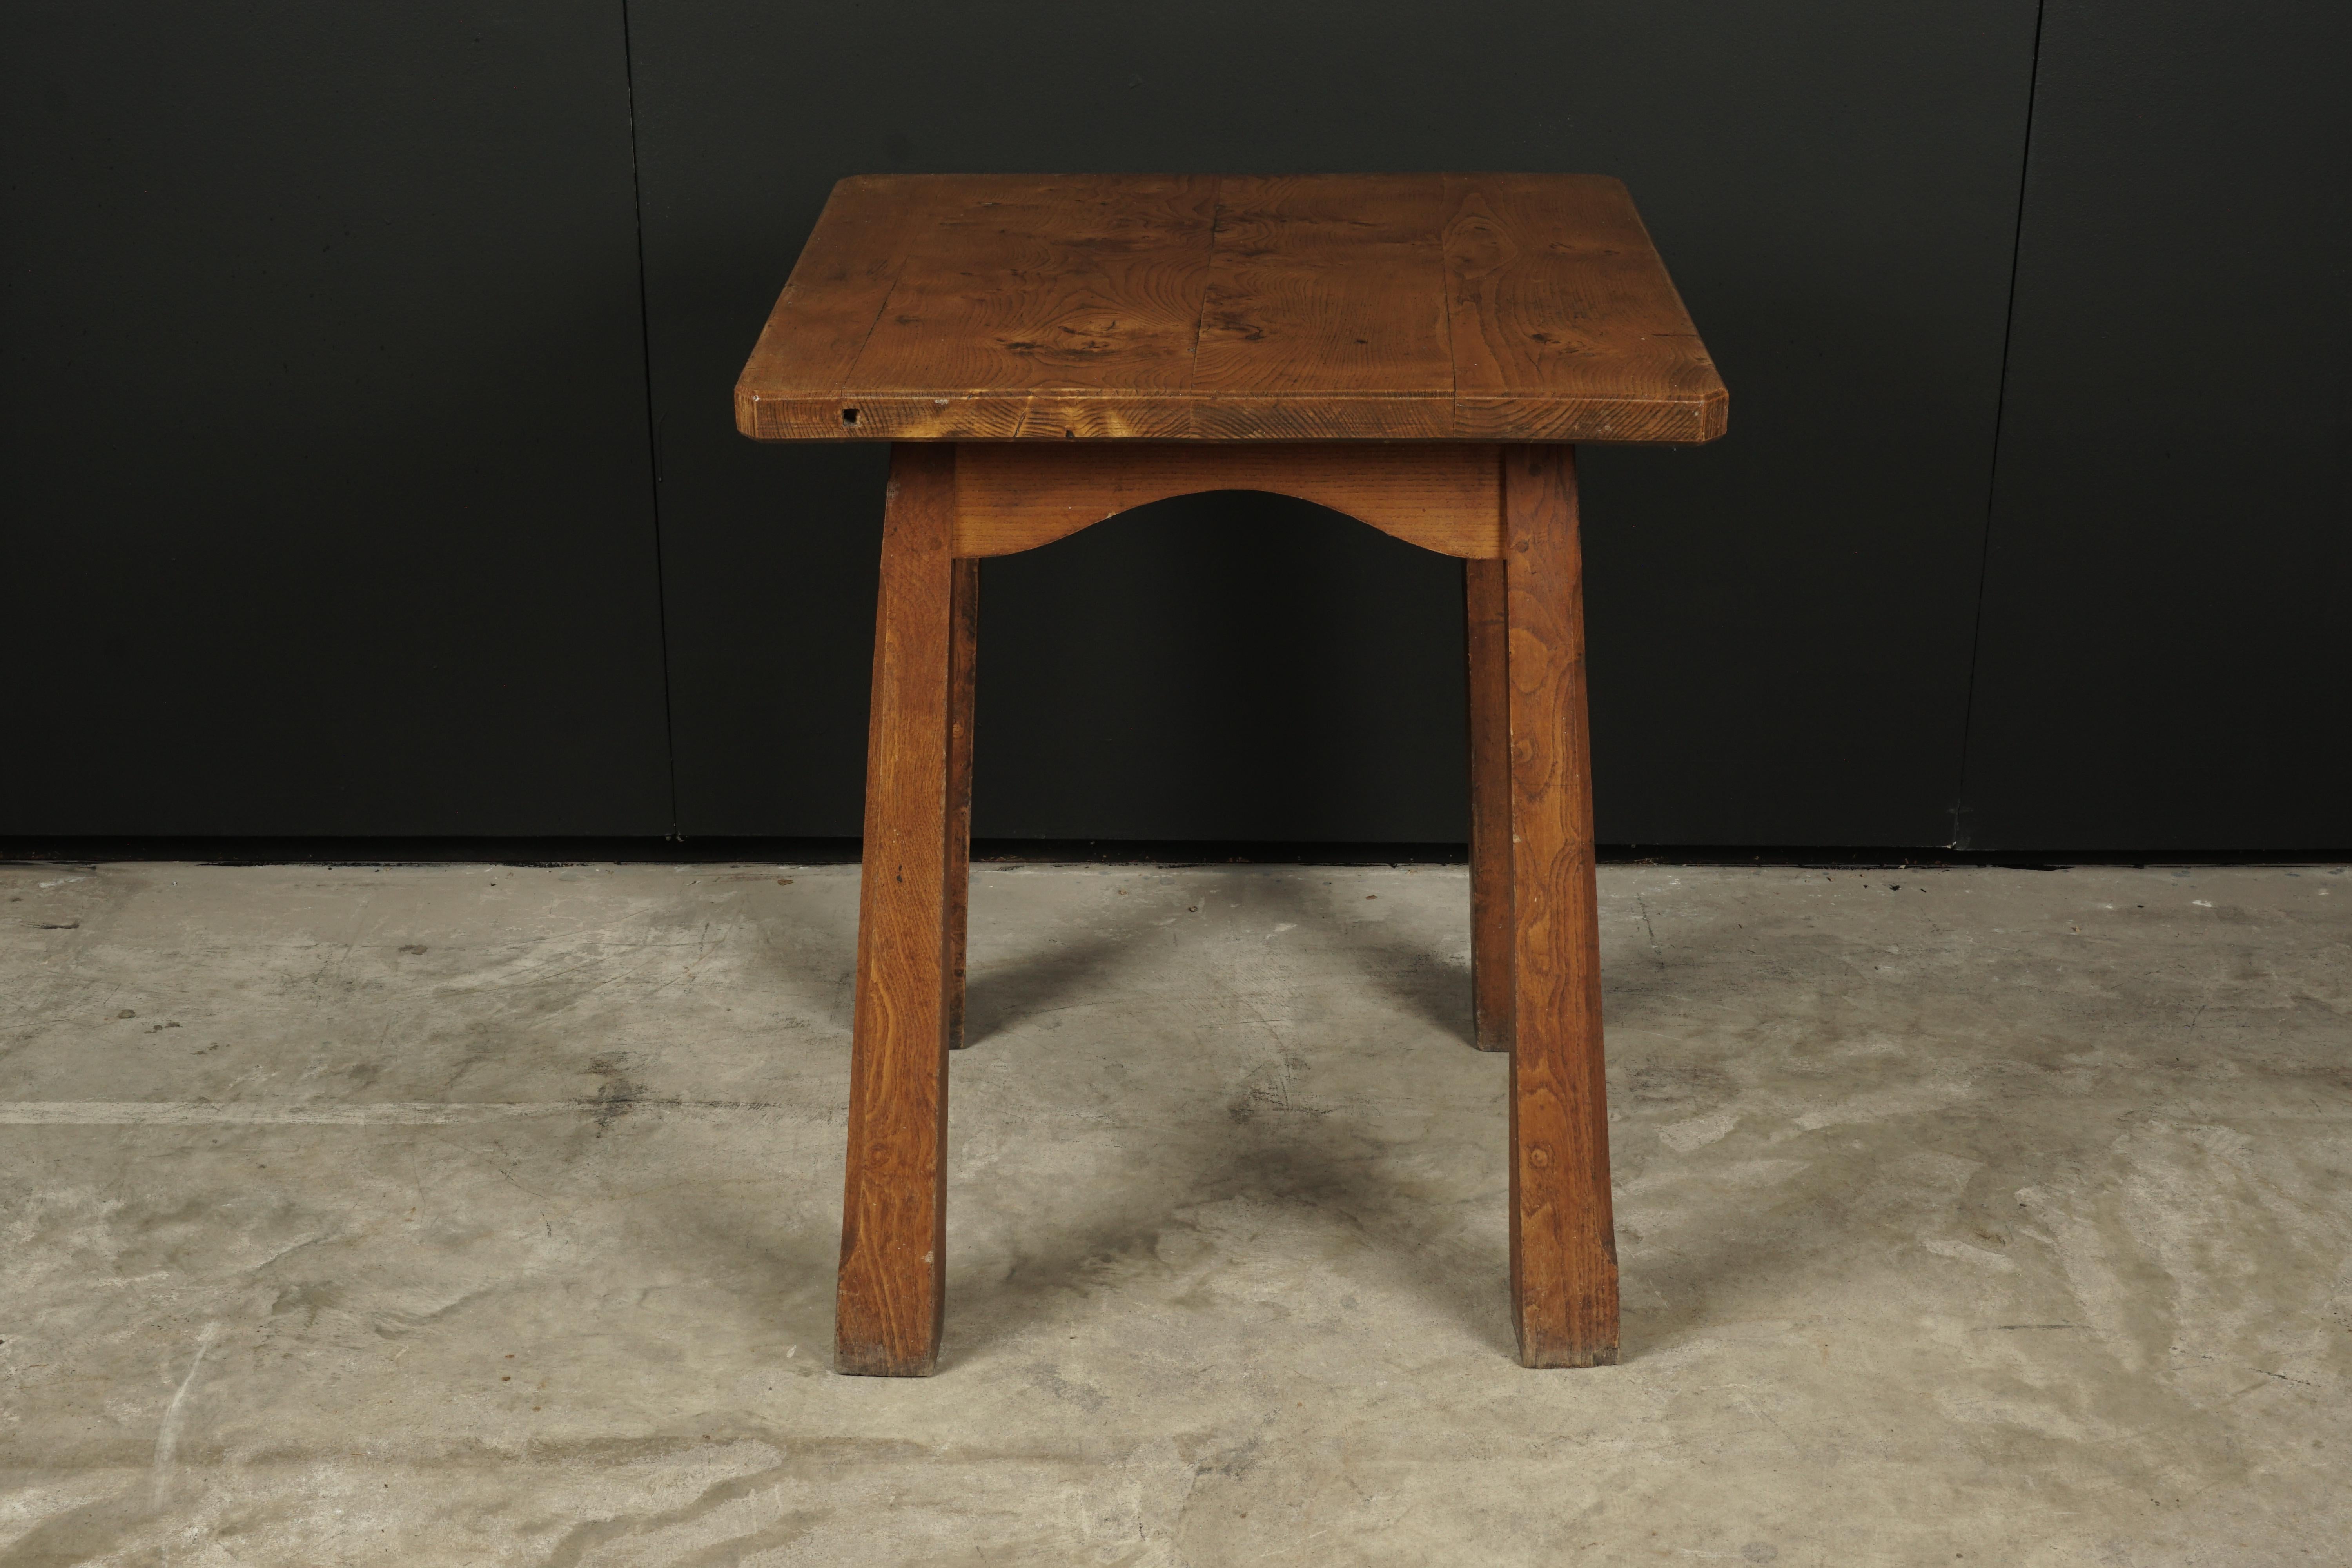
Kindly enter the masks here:
[[0, 832], [663, 832], [621, 9], [0, 21]]

